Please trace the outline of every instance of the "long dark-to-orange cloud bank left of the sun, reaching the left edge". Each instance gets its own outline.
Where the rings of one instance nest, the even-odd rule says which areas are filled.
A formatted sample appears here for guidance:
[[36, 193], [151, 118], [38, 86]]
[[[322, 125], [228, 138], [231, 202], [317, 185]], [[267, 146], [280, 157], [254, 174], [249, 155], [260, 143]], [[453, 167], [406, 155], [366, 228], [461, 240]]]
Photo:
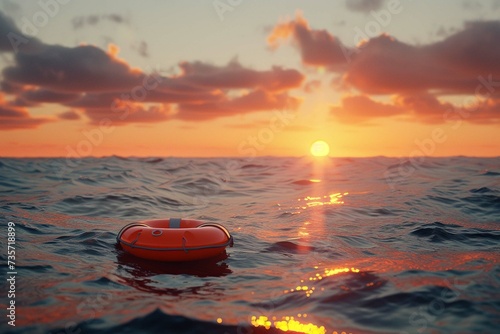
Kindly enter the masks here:
[[[233, 60], [224, 66], [181, 62], [179, 74], [164, 76], [132, 68], [118, 58], [118, 47], [65, 47], [27, 38], [0, 13], [0, 51], [13, 54], [2, 71], [2, 129], [35, 127], [48, 121], [154, 123], [170, 119], [204, 121], [239, 113], [297, 108], [289, 90], [301, 86], [297, 70], [274, 66], [254, 70]], [[28, 107], [55, 103], [72, 108], [57, 118], [34, 118]], [[76, 115], [76, 116], [75, 116]], [[17, 121], [11, 121], [16, 117]]]

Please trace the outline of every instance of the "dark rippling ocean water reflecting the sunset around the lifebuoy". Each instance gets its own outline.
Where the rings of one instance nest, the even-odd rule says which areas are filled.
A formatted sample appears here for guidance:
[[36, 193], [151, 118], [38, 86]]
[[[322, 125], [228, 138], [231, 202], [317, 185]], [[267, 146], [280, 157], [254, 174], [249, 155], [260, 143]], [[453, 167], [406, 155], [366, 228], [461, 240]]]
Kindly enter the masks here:
[[[2, 333], [500, 330], [500, 158], [4, 158], [0, 175]], [[234, 247], [169, 264], [116, 245], [169, 217]]]

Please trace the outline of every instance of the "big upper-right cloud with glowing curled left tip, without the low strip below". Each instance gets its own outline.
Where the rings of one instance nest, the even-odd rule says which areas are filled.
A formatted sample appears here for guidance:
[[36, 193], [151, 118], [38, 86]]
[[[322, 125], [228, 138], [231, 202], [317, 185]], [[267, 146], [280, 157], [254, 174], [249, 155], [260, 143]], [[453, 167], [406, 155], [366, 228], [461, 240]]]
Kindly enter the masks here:
[[[469, 22], [442, 41], [413, 46], [382, 34], [347, 48], [325, 30], [311, 29], [300, 15], [278, 23], [271, 46], [292, 37], [306, 65], [343, 74], [346, 86], [369, 94], [439, 91], [474, 93], [480, 76], [500, 81], [500, 21]], [[348, 66], [346, 62], [348, 61]], [[345, 66], [340, 66], [344, 64]]]

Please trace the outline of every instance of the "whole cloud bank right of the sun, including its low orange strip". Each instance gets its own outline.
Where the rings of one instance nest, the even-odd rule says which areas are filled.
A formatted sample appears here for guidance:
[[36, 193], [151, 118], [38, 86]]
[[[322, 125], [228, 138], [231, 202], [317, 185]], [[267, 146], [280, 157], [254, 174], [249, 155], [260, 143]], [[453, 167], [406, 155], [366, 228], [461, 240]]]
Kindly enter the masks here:
[[[442, 123], [448, 111], [459, 113], [466, 107], [474, 111], [467, 121], [500, 121], [500, 21], [469, 22], [462, 31], [423, 46], [385, 34], [346, 46], [330, 32], [312, 29], [297, 13], [295, 19], [277, 24], [268, 36], [272, 48], [287, 40], [299, 51], [304, 65], [342, 75], [337, 87], [350, 96], [331, 109], [340, 122], [364, 123], [400, 115]], [[368, 95], [395, 97], [386, 104]], [[464, 96], [467, 105], [440, 100], [450, 95]]]

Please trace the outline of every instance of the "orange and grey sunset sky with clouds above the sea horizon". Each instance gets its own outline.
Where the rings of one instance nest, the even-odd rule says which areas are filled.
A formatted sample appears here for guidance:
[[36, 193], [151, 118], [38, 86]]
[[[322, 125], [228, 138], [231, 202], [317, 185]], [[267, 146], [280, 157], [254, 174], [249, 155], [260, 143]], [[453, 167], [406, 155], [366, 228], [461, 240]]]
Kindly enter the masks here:
[[500, 155], [497, 0], [0, 10], [0, 156]]

